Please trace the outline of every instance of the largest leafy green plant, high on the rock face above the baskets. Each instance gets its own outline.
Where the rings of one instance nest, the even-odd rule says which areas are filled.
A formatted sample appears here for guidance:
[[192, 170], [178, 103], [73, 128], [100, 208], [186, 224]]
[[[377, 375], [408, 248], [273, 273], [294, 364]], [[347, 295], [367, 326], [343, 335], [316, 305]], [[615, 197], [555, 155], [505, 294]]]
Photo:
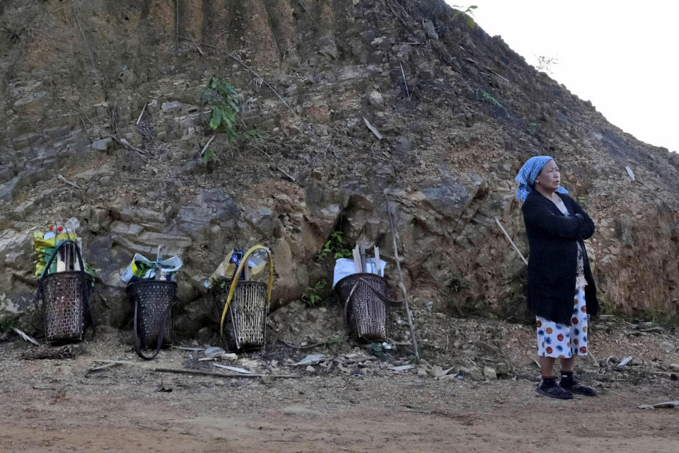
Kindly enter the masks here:
[[[208, 125], [214, 132], [224, 134], [228, 147], [248, 139], [261, 139], [262, 132], [256, 129], [244, 130], [245, 123], [238, 118], [238, 92], [227, 81], [212, 77], [207, 86], [200, 92], [202, 101], [211, 105], [212, 112]], [[205, 151], [203, 160], [205, 164], [216, 159], [216, 151], [212, 150], [211, 158], [208, 159], [208, 151]]]

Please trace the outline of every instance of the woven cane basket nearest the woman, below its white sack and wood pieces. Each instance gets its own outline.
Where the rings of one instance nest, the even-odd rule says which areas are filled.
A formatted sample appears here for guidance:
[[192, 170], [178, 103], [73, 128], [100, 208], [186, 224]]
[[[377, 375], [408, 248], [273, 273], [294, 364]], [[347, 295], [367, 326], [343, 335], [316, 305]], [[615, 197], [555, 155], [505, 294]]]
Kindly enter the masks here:
[[371, 287], [383, 296], [388, 292], [387, 281], [383, 277], [367, 273], [347, 275], [337, 282], [335, 290], [345, 304], [352, 336], [366, 341], [383, 341], [387, 338], [387, 306]]

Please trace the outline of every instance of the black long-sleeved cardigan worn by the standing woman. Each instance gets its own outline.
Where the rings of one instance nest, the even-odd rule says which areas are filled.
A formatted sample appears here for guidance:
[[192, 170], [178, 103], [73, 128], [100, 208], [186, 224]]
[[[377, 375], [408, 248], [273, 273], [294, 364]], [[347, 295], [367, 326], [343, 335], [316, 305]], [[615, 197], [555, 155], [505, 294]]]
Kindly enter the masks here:
[[537, 191], [531, 192], [521, 207], [530, 246], [527, 298], [528, 308], [538, 316], [570, 326], [578, 242], [584, 253], [587, 312], [595, 316], [599, 311], [596, 286], [583, 242], [594, 234], [594, 222], [571, 197], [557, 195], [566, 205], [569, 216], [564, 216], [557, 205]]

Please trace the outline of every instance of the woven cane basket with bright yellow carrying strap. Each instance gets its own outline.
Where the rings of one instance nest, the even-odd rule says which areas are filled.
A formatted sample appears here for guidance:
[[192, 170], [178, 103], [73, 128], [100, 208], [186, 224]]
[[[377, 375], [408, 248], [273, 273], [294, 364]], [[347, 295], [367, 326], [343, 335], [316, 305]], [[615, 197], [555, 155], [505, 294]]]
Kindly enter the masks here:
[[[248, 263], [248, 256], [254, 251], [263, 249], [269, 261], [268, 283], [253, 280], [238, 280], [243, 267]], [[231, 287], [216, 293], [221, 308], [219, 331], [226, 338], [226, 346], [230, 350], [262, 348], [265, 345], [267, 330], [267, 313], [271, 302], [271, 288], [274, 282], [274, 265], [271, 254], [265, 246], [250, 248], [233, 275]], [[226, 294], [226, 299], [224, 296]], [[226, 329], [225, 329], [226, 324]], [[225, 333], [226, 331], [226, 333]]]

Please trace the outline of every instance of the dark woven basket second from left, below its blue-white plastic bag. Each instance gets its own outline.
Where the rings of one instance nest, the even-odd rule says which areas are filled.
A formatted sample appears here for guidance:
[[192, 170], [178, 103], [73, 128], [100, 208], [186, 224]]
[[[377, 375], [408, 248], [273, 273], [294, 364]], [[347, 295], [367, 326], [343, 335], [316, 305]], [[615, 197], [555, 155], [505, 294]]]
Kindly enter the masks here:
[[137, 331], [141, 348], [156, 348], [158, 336], [163, 345], [172, 343], [173, 304], [177, 283], [166, 280], [141, 280], [127, 285], [127, 300], [137, 307]]

